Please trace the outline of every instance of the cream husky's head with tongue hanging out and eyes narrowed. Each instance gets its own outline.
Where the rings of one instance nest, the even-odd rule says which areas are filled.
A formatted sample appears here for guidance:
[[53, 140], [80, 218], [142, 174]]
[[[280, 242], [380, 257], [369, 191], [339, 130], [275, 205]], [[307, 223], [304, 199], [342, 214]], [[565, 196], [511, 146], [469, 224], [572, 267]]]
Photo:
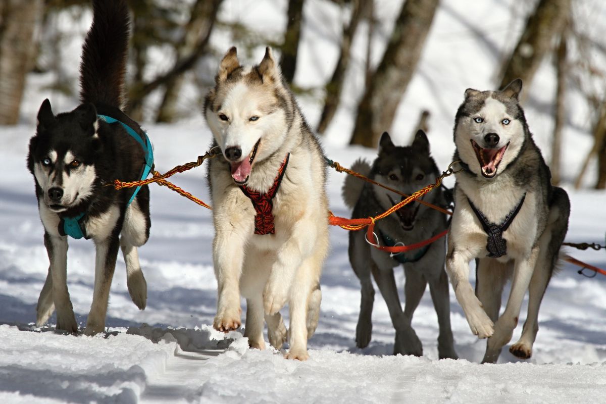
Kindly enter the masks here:
[[231, 177], [246, 184], [255, 162], [274, 153], [290, 128], [288, 108], [279, 108], [289, 102], [287, 90], [270, 48], [255, 67], [242, 67], [236, 48], [231, 48], [221, 61], [216, 84], [208, 94], [205, 116], [230, 163]]

